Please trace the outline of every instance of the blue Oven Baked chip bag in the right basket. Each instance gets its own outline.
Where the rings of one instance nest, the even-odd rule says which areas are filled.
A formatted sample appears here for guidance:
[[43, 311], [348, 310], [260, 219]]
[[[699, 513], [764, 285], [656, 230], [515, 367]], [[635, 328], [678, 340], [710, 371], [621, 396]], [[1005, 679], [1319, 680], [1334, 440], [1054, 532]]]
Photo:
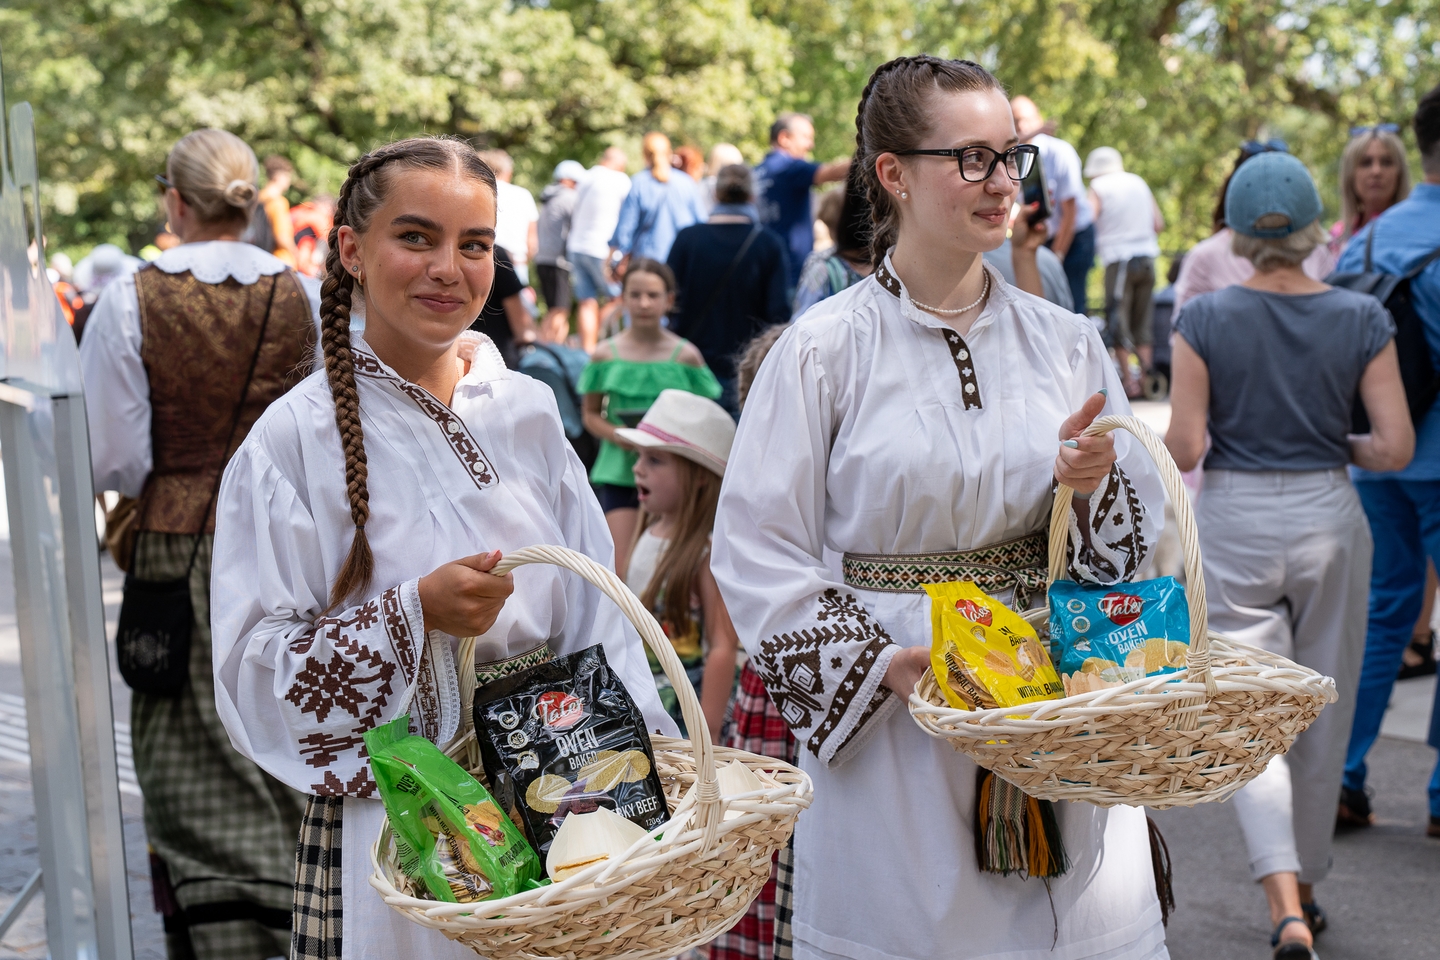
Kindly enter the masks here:
[[1050, 643], [1066, 697], [1185, 669], [1189, 603], [1175, 577], [1050, 584]]

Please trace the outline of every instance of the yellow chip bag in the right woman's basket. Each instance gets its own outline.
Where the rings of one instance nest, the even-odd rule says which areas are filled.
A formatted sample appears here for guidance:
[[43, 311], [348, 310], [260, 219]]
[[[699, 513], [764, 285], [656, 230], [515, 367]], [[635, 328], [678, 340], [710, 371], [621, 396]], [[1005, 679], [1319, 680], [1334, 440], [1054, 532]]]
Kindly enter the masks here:
[[989, 710], [1057, 699], [1064, 685], [1035, 629], [969, 581], [927, 583], [930, 666], [952, 707]]

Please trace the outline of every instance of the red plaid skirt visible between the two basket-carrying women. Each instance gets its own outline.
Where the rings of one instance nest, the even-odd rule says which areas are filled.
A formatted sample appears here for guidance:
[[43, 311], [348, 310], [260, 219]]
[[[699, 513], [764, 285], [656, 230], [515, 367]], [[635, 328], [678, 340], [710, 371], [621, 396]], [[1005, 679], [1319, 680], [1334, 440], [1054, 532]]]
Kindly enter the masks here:
[[[795, 737], [765, 692], [759, 674], [749, 664], [740, 671], [740, 688], [734, 695], [732, 718], [730, 733], [724, 738], [726, 747], [795, 763], [798, 750]], [[710, 960], [789, 960], [791, 915], [795, 902], [795, 868], [791, 852], [789, 845], [776, 852], [770, 881], [760, 889], [760, 895], [750, 904], [740, 923], [710, 944]]]

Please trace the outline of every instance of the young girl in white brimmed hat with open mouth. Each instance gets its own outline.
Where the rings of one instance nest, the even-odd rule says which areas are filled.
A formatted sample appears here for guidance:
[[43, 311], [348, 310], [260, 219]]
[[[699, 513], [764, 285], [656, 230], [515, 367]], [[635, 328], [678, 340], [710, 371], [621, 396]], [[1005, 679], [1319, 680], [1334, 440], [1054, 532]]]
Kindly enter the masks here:
[[[714, 400], [665, 390], [634, 430], [616, 430], [639, 449], [635, 489], [639, 524], [625, 583], [655, 615], [700, 691], [710, 738], [720, 741], [734, 658], [740, 646], [710, 574], [710, 531], [734, 420]], [[660, 699], [684, 731], [680, 701], [660, 662], [649, 659]]]

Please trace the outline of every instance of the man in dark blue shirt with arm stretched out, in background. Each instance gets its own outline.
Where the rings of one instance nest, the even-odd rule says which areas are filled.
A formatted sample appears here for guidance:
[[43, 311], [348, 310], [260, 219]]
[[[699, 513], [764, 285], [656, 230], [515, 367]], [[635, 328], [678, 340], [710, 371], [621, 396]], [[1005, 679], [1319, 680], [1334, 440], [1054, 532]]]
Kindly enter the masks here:
[[789, 286], [795, 289], [801, 268], [815, 246], [815, 217], [809, 190], [816, 183], [844, 180], [848, 160], [806, 160], [815, 148], [815, 124], [805, 114], [780, 114], [770, 124], [770, 153], [755, 168], [760, 223], [779, 235], [789, 252]]

